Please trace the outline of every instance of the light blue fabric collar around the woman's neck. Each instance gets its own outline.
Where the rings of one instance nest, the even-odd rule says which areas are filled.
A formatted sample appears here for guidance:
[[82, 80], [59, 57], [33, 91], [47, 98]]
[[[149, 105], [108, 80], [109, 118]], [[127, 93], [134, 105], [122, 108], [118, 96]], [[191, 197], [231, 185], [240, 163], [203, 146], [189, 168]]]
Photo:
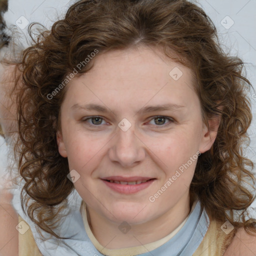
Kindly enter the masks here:
[[[35, 224], [23, 213], [19, 198], [21, 185], [13, 189], [12, 203], [17, 213], [29, 224], [35, 242], [43, 256], [103, 256], [91, 243], [85, 231], [79, 211], [81, 197], [75, 190], [68, 197], [71, 212], [63, 218], [58, 227], [60, 236], [67, 237], [73, 235], [73, 237], [72, 239], [62, 239], [66, 245], [56, 245], [55, 238], [43, 241], [35, 229]], [[154, 250], [139, 255], [191, 256], [199, 246], [209, 226], [208, 215], [204, 209], [200, 215], [200, 208], [200, 201], [198, 200], [194, 209], [189, 213], [185, 224], [170, 240]], [[43, 230], [42, 234], [48, 237], [47, 233]]]

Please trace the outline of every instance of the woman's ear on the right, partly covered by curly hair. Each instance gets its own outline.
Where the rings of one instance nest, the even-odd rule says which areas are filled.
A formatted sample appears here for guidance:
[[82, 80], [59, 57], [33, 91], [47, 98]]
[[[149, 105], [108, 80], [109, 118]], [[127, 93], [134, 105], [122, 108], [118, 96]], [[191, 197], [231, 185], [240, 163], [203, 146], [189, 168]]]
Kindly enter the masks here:
[[217, 136], [221, 116], [214, 115], [208, 119], [209, 128], [203, 122], [202, 138], [199, 146], [199, 152], [204, 153], [209, 150]]

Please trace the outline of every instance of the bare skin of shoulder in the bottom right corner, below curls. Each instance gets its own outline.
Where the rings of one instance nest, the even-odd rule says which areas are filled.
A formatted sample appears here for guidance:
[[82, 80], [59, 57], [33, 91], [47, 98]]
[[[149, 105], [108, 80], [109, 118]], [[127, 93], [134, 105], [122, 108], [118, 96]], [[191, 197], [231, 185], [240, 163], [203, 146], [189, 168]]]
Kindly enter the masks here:
[[238, 228], [223, 256], [255, 256], [256, 233], [250, 235], [244, 228]]

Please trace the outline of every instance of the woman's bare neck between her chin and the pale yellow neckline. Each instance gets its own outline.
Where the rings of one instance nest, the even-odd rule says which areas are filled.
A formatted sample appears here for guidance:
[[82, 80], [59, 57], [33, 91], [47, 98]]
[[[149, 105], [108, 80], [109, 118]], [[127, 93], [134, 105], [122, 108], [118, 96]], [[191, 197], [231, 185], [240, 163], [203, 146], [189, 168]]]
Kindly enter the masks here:
[[128, 232], [118, 229], [120, 222], [113, 222], [87, 205], [87, 220], [97, 241], [107, 249], [140, 246], [157, 241], [176, 229], [190, 212], [189, 195], [183, 196], [164, 214], [145, 223], [128, 225]]

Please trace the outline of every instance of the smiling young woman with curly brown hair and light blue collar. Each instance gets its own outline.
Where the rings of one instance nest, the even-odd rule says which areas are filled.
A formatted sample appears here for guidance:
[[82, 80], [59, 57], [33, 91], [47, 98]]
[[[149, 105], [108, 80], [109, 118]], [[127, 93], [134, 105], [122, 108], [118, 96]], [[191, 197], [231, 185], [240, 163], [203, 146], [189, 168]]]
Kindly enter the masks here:
[[251, 248], [250, 83], [215, 39], [188, 1], [81, 0], [24, 50], [20, 255], [242, 255], [239, 234]]

